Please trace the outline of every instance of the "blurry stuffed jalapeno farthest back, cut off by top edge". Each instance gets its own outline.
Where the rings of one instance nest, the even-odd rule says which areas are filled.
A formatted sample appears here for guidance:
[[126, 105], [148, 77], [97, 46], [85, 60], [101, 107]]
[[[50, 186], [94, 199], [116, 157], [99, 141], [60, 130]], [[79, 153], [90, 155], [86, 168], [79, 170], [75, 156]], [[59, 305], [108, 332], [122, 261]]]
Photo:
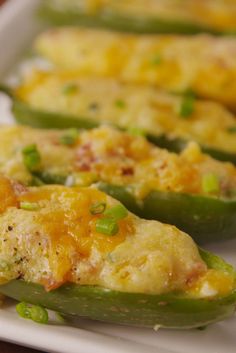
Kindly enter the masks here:
[[44, 0], [40, 14], [57, 25], [139, 33], [236, 32], [232, 0]]

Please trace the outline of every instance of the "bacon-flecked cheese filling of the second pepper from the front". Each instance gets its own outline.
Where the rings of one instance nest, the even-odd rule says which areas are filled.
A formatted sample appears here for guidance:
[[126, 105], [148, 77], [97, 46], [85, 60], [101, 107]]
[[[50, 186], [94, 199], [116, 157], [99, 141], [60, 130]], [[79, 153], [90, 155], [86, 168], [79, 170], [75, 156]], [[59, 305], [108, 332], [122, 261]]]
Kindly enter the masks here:
[[[41, 158], [40, 172], [64, 176], [66, 185], [90, 185], [97, 181], [127, 186], [137, 198], [152, 190], [205, 194], [202, 180], [214, 175], [219, 190], [213, 197], [232, 197], [236, 189], [236, 168], [203, 154], [190, 143], [180, 154], [157, 148], [141, 136], [104, 126], [81, 131], [72, 145], [61, 138], [69, 131], [37, 130], [23, 126], [0, 129], [0, 172], [30, 184], [22, 149], [36, 144]], [[55, 183], [55, 182], [54, 182]]]

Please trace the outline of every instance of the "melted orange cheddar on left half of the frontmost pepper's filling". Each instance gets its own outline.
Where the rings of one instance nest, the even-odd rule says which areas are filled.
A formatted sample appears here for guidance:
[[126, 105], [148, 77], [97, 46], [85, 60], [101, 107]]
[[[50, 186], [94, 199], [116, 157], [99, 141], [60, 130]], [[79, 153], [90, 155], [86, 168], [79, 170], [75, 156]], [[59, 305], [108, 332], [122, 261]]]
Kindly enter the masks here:
[[[15, 189], [8, 179], [0, 178], [1, 213], [4, 214], [9, 207], [16, 210], [25, 204], [37, 206], [25, 211], [22, 206], [19, 212], [26, 212], [25, 217], [32, 214], [31, 221], [38, 224], [42, 239], [48, 244], [48, 263], [53, 276], [43, 276], [39, 280], [47, 289], [73, 280], [73, 263], [85, 261], [95, 250], [100, 256], [106, 255], [134, 233], [130, 216], [118, 221], [119, 230], [115, 236], [96, 231], [96, 221], [102, 215], [91, 214], [91, 206], [97, 202], [105, 202], [109, 208], [109, 204], [112, 204], [104, 193], [96, 189], [70, 189], [63, 186], [26, 189], [16, 183]], [[15, 212], [14, 208], [12, 212]], [[10, 226], [10, 231], [12, 228], [13, 226]], [[33, 242], [39, 234], [39, 231], [33, 234]]]

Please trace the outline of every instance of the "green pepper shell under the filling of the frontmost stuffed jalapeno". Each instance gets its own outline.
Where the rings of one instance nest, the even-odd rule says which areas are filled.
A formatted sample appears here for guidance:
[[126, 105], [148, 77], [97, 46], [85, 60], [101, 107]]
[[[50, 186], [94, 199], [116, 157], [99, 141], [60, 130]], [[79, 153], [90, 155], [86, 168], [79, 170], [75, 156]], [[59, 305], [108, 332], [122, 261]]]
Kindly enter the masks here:
[[[221, 258], [200, 249], [208, 268], [233, 274]], [[126, 293], [97, 286], [65, 284], [46, 292], [38, 284], [13, 280], [0, 293], [64, 315], [142, 327], [197, 328], [233, 315], [236, 289], [223, 297], [193, 298], [185, 293]]]

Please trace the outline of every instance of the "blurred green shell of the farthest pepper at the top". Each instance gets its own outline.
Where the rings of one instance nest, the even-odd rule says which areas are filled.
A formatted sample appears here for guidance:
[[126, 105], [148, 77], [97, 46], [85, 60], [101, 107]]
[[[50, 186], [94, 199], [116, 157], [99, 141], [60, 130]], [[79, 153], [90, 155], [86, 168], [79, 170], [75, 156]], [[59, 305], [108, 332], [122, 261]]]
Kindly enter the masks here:
[[41, 5], [38, 13], [43, 20], [56, 26], [82, 25], [134, 33], [221, 33], [210, 26], [187, 20], [167, 19], [158, 15], [138, 17], [112, 10], [88, 13], [78, 7], [73, 10], [58, 9], [48, 1]]

